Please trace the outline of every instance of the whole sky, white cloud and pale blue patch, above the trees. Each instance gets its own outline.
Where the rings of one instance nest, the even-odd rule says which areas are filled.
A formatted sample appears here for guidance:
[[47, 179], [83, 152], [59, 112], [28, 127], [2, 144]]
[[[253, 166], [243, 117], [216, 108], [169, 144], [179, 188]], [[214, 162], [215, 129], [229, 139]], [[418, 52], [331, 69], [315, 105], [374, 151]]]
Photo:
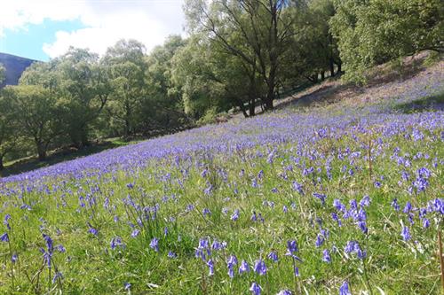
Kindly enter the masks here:
[[0, 52], [49, 60], [69, 46], [104, 54], [120, 39], [147, 51], [184, 35], [184, 0], [2, 0]]

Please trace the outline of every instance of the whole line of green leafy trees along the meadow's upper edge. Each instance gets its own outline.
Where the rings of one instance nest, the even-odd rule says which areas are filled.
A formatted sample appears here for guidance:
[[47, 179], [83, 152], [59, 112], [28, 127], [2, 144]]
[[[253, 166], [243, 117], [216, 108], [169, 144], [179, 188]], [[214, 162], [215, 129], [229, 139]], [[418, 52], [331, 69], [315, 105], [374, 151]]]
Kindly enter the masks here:
[[102, 57], [70, 48], [2, 89], [0, 169], [18, 151], [43, 160], [60, 146], [194, 126], [230, 109], [254, 116], [306, 82], [365, 83], [370, 66], [444, 48], [440, 0], [186, 0], [184, 12], [187, 37], [149, 54], [135, 40]]

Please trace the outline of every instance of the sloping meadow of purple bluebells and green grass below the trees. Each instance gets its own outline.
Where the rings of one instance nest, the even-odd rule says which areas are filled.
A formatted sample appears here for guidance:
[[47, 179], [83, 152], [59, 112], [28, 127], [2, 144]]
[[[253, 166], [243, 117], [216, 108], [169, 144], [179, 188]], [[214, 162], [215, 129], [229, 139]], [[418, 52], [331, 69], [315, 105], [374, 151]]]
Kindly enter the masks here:
[[0, 182], [0, 292], [440, 294], [442, 74]]

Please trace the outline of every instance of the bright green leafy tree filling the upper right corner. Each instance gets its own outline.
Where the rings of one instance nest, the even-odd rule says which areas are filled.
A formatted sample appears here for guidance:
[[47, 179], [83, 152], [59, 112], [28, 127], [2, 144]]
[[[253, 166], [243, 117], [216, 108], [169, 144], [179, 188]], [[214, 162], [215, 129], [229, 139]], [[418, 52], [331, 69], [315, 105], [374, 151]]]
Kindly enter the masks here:
[[444, 50], [440, 0], [336, 0], [330, 20], [345, 79], [365, 82], [369, 66], [421, 50]]

